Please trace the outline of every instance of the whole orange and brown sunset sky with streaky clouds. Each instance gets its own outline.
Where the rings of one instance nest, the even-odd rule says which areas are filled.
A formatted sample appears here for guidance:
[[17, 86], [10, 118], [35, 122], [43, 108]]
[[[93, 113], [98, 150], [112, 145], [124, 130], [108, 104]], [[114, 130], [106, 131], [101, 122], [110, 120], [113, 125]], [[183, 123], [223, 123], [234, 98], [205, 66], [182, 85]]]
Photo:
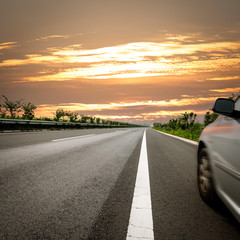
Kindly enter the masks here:
[[240, 92], [239, 0], [0, 0], [0, 95], [125, 122]]

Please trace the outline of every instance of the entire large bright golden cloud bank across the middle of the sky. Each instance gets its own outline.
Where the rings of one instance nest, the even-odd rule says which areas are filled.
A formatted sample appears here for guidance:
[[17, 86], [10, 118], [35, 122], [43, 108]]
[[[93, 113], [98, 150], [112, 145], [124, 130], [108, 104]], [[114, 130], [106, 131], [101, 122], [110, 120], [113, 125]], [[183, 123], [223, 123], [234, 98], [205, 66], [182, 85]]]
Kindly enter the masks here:
[[[42, 39], [56, 37], [67, 38], [69, 36], [51, 35], [42, 37]], [[65, 48], [48, 48], [46, 55], [30, 54], [26, 55], [24, 59], [7, 59], [0, 63], [0, 67], [29, 64], [56, 67], [54, 74], [42, 74], [42, 71], [39, 71], [32, 77], [28, 76], [22, 79], [26, 82], [136, 79], [223, 72], [228, 71], [229, 68], [239, 71], [240, 58], [236, 56], [239, 55], [240, 42], [196, 42], [195, 44], [181, 42], [192, 38], [194, 36], [191, 35], [169, 36], [167, 41], [161, 43], [134, 42], [90, 50], [82, 49], [80, 44]], [[61, 64], [61, 68], [59, 64]], [[81, 66], [79, 66], [80, 64]], [[217, 78], [208, 80], [217, 80]]]

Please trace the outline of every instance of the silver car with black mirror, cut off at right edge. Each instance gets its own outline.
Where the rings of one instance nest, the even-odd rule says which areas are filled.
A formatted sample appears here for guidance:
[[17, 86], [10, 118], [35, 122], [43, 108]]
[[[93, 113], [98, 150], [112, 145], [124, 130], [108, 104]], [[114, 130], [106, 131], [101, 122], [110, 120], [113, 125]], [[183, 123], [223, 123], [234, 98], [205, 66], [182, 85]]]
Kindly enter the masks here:
[[240, 222], [240, 97], [217, 99], [213, 111], [220, 116], [199, 139], [199, 193], [210, 205], [217, 194]]

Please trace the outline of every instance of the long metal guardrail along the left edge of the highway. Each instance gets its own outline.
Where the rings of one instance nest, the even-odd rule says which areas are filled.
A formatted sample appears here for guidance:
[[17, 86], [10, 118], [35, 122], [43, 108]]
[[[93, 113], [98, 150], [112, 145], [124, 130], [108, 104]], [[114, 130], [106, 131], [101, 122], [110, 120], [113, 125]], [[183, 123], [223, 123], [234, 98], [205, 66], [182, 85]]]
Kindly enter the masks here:
[[4, 126], [32, 126], [32, 127], [137, 127], [135, 125], [109, 125], [93, 123], [74, 123], [74, 122], [57, 122], [57, 121], [38, 121], [23, 119], [6, 119], [0, 118], [0, 128]]

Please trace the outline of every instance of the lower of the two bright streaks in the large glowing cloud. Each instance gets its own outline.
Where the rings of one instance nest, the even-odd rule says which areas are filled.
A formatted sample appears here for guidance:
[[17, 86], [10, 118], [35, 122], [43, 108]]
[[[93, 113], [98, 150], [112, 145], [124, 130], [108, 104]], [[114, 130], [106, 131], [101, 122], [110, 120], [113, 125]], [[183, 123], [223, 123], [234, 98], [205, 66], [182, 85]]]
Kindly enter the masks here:
[[[32, 59], [35, 62], [53, 60], [56, 63], [61, 61], [58, 58], [37, 57]], [[9, 63], [8, 63], [9, 64]], [[219, 59], [206, 61], [192, 61], [179, 63], [162, 63], [140, 61], [136, 63], [105, 63], [93, 64], [84, 68], [69, 68], [57, 74], [43, 75], [37, 77], [25, 77], [24, 81], [66, 81], [78, 78], [85, 79], [114, 79], [114, 78], [138, 78], [153, 76], [177, 76], [189, 75], [202, 72], [226, 71], [228, 68], [239, 68], [240, 59]]]

